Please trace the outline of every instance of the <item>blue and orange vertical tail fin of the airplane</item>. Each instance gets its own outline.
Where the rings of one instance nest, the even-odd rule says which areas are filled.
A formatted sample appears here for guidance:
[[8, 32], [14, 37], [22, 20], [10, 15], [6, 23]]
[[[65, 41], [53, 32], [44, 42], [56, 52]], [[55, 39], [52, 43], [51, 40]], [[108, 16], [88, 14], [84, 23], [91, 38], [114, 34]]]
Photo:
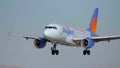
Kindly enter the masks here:
[[97, 28], [97, 18], [98, 18], [98, 8], [95, 9], [89, 28], [87, 29], [88, 31], [94, 34], [96, 33], [96, 28]]

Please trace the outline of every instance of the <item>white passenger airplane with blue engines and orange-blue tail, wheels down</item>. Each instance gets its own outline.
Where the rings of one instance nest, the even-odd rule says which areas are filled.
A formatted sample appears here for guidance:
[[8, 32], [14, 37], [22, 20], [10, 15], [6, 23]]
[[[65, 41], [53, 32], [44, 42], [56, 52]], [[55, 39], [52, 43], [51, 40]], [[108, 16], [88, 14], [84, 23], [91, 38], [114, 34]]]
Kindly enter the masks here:
[[62, 26], [59, 24], [49, 24], [45, 26], [43, 37], [34, 38], [23, 36], [26, 40], [33, 39], [34, 45], [37, 48], [44, 48], [47, 42], [52, 43], [51, 54], [58, 55], [59, 50], [56, 49], [57, 45], [66, 45], [71, 47], [83, 47], [83, 55], [90, 55], [90, 49], [95, 43], [117, 40], [120, 35], [116, 36], [98, 36], [96, 34], [98, 18], [98, 8], [94, 10], [88, 29], [80, 30], [79, 28], [72, 28], [70, 26]]

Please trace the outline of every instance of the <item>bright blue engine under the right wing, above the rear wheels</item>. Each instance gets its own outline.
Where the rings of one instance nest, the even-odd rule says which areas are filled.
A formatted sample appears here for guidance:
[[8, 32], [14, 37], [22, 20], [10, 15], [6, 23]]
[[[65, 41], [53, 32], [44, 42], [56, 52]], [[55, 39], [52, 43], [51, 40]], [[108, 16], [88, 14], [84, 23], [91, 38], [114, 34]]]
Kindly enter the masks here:
[[87, 38], [87, 39], [82, 40], [82, 46], [84, 48], [87, 48], [87, 49], [92, 48], [94, 44], [95, 43], [92, 39]]

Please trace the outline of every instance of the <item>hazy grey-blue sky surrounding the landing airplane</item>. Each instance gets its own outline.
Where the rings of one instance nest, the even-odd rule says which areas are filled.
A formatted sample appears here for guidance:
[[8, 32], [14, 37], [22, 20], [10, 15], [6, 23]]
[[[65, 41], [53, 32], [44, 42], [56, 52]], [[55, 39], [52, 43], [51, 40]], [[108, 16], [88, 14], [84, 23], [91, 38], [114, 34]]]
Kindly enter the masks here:
[[53, 56], [50, 43], [37, 49], [33, 40], [21, 37], [42, 37], [50, 23], [87, 29], [95, 8], [97, 34], [120, 35], [119, 6], [119, 0], [0, 0], [0, 67], [119, 68], [120, 40], [96, 43], [90, 56], [82, 54], [83, 48], [58, 45], [60, 54]]

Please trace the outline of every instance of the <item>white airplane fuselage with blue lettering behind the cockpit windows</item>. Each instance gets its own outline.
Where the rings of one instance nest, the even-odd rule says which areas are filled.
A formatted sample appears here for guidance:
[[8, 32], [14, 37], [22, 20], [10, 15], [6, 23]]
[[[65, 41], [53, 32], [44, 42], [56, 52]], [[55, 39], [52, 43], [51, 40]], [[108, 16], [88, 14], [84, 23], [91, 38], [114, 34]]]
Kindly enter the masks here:
[[[73, 42], [74, 38], [87, 38], [90, 37], [89, 31], [83, 31], [79, 28], [70, 28], [69, 26], [61, 26], [58, 24], [49, 24], [45, 28], [43, 36], [51, 42], [66, 46], [80, 46]], [[51, 27], [51, 28], [49, 28]], [[52, 27], [56, 27], [54, 29]]]

